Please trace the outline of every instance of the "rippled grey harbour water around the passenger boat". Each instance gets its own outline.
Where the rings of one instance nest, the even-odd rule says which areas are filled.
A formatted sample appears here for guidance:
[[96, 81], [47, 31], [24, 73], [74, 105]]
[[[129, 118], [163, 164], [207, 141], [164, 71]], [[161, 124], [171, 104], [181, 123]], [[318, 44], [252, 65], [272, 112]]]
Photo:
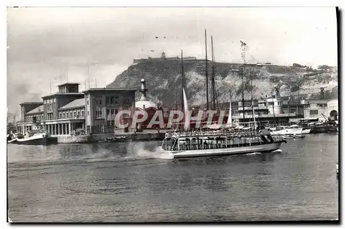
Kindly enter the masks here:
[[338, 219], [338, 135], [266, 154], [172, 159], [160, 142], [8, 144], [14, 222]]

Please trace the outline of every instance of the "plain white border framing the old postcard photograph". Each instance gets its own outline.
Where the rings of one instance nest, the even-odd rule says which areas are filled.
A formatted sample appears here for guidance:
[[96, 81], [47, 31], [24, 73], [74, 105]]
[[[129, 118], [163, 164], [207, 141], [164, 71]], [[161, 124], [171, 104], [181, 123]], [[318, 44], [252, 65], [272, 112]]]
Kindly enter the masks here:
[[[0, 12], [1, 12], [1, 16], [2, 19], [1, 20], [1, 30], [3, 31], [3, 36], [1, 36], [1, 61], [3, 63], [1, 71], [2, 71], [2, 76], [5, 79], [5, 83], [1, 83], [1, 94], [3, 95], [1, 97], [1, 99], [3, 99], [4, 103], [7, 103], [7, 93], [6, 93], [6, 87], [7, 87], [7, 74], [6, 74], [6, 6], [339, 6], [340, 8], [344, 9], [344, 2], [345, 1], [340, 1], [340, 0], [328, 0], [328, 1], [316, 1], [316, 0], [311, 0], [311, 1], [302, 1], [302, 0], [290, 0], [290, 1], [268, 1], [268, 0], [261, 0], [261, 1], [255, 1], [255, 0], [237, 0], [237, 1], [215, 1], [215, 0], [210, 0], [210, 1], [173, 1], [173, 0], [166, 0], [166, 1], [162, 1], [162, 0], [150, 0], [150, 1], [140, 1], [140, 0], [117, 0], [117, 1], [104, 1], [104, 0], [97, 0], [97, 1], [90, 1], [90, 0], [84, 0], [84, 1], [67, 1], [67, 0], [60, 0], [60, 1], [48, 1], [48, 0], [41, 0], [41, 1], [1, 1], [1, 3], [3, 4], [3, 8], [1, 8]], [[342, 17], [344, 17], [344, 12], [342, 14]], [[342, 30], [344, 30], [344, 22], [342, 23]], [[344, 47], [344, 46], [343, 46]], [[343, 61], [344, 62], [344, 61]], [[344, 72], [344, 65], [342, 64], [342, 71]], [[343, 94], [344, 95], [344, 94]], [[342, 97], [339, 101], [345, 101], [344, 98]], [[6, 112], [7, 113], [7, 112]], [[342, 112], [340, 112], [340, 116], [342, 117]], [[3, 135], [5, 135], [5, 119], [7, 117], [7, 114], [5, 114], [5, 112], [1, 112], [1, 119], [3, 120], [1, 122], [1, 126], [3, 125], [3, 128], [1, 128], [3, 131], [1, 133], [3, 133]], [[343, 129], [343, 128], [342, 128]], [[343, 130], [341, 130], [343, 132]], [[343, 136], [344, 137], [344, 136]], [[343, 138], [342, 137], [342, 138]], [[344, 137], [345, 138], [345, 137]], [[5, 137], [3, 136], [2, 139], [5, 139]], [[342, 139], [344, 142], [344, 139]], [[1, 183], [6, 185], [6, 142], [3, 140], [1, 141], [1, 144], [3, 146], [3, 151], [1, 153], [1, 156], [3, 157], [3, 159], [1, 161], [3, 161], [3, 166], [2, 166], [2, 170], [3, 170], [3, 175], [1, 176]], [[339, 154], [342, 152], [339, 152]], [[343, 160], [339, 163], [341, 163], [342, 165], [344, 165], [344, 163], [342, 163]], [[342, 166], [340, 166], [340, 169], [342, 170]], [[1, 188], [1, 217], [2, 220], [1, 222], [5, 222], [6, 221], [6, 189], [5, 188]], [[343, 197], [344, 199], [344, 197]], [[9, 227], [8, 223], [6, 223], [4, 225], [5, 227]], [[188, 227], [190, 227], [191, 225], [188, 225]], [[195, 225], [197, 227], [201, 226], [201, 225]], [[208, 225], [206, 225], [208, 226]], [[21, 226], [19, 226], [20, 228]], [[48, 227], [48, 226], [43, 226], [43, 227]], [[66, 227], [66, 226], [65, 226]], [[98, 226], [91, 226], [93, 228], [98, 228]], [[137, 226], [131, 226], [131, 227], [137, 227]], [[148, 227], [148, 226], [147, 226]], [[175, 226], [178, 228], [181, 228], [180, 225]], [[245, 226], [247, 228], [251, 228], [252, 226]], [[3, 228], [3, 226], [1, 226], [1, 228]], [[67, 228], [72, 228], [72, 226], [67, 226]], [[297, 228], [304, 228], [304, 225], [302, 226], [297, 226]]]

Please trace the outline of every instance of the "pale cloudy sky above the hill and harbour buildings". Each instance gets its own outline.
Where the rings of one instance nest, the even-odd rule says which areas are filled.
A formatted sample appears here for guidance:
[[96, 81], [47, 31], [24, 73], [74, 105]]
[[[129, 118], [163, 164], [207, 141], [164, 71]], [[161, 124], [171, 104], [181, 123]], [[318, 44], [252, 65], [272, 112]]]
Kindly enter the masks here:
[[335, 8], [8, 8], [8, 112], [66, 81], [105, 87], [163, 49], [204, 59], [205, 28], [216, 61], [242, 62], [242, 40], [248, 63], [337, 66]]

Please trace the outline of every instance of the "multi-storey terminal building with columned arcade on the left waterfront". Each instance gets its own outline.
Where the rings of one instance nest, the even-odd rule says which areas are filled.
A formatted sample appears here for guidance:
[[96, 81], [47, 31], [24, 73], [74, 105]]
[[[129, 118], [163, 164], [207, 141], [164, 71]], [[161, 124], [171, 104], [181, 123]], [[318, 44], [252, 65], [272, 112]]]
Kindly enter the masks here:
[[[25, 133], [39, 126], [50, 135], [72, 135], [76, 131], [105, 133], [115, 128], [115, 115], [135, 109], [135, 89], [90, 88], [79, 92], [79, 83], [64, 83], [59, 92], [42, 97], [43, 102], [21, 103], [21, 121], [17, 132]], [[132, 115], [121, 115], [120, 123]]]

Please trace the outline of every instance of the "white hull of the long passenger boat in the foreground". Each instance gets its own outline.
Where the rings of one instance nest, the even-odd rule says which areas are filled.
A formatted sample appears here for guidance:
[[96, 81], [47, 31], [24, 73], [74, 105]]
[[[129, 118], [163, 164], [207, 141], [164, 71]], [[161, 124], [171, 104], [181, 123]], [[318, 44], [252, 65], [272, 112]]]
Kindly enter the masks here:
[[181, 157], [208, 157], [217, 155], [239, 155], [252, 152], [272, 152], [280, 148], [282, 142], [275, 142], [270, 144], [262, 144], [257, 146], [242, 146], [234, 148], [218, 148], [206, 150], [181, 150], [181, 151], [166, 151], [174, 155], [174, 158]]

